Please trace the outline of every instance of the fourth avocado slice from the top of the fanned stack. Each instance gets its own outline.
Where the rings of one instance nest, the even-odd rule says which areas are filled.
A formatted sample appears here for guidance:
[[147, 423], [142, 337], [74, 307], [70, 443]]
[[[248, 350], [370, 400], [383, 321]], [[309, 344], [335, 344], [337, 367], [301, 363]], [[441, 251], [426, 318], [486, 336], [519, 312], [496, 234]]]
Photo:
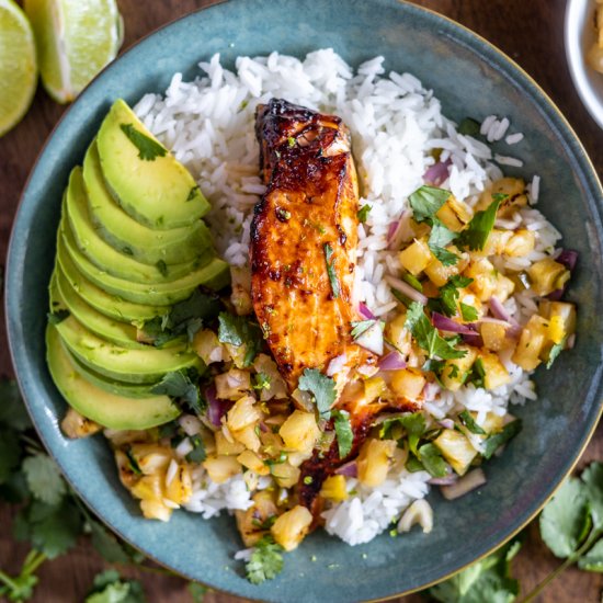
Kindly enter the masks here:
[[186, 299], [193, 293], [193, 289], [198, 285], [205, 285], [208, 288], [219, 289], [226, 286], [229, 282], [230, 274], [228, 264], [219, 258], [214, 258], [204, 266], [198, 266], [194, 272], [186, 276], [172, 281], [171, 283], [159, 283], [152, 285], [144, 285], [140, 283], [132, 283], [125, 278], [120, 278], [107, 274], [106, 271], [94, 265], [79, 249], [73, 239], [73, 234], [69, 227], [68, 220], [61, 220], [59, 226], [61, 237], [59, 247], [65, 244], [65, 249], [69, 257], [77, 265], [78, 270], [95, 285], [107, 293], [117, 295], [134, 302], [136, 304], [145, 304], [149, 306], [159, 305], [167, 306], [175, 304], [182, 299]]

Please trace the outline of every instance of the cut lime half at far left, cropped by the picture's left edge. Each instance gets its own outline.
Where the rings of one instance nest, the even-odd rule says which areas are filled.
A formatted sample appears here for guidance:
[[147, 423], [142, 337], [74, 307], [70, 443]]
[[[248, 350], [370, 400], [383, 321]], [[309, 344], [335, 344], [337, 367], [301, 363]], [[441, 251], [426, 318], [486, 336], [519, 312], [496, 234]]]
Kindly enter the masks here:
[[32, 27], [12, 0], [0, 0], [0, 136], [32, 103], [37, 82]]

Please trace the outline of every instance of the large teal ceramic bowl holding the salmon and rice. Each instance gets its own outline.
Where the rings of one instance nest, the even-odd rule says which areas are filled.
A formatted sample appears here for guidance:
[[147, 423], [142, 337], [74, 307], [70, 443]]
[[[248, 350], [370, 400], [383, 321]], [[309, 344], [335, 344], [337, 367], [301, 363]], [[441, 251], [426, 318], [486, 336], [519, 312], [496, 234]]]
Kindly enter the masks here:
[[[214, 53], [280, 50], [297, 56], [332, 46], [350, 64], [375, 55], [416, 73], [456, 120], [508, 115], [526, 139], [513, 148], [525, 175], [542, 175], [541, 208], [580, 252], [570, 298], [578, 304], [576, 348], [536, 375], [539, 399], [516, 414], [523, 432], [488, 463], [486, 486], [451, 503], [430, 496], [435, 526], [349, 547], [312, 534], [286, 557], [283, 573], [254, 587], [232, 555], [241, 548], [231, 517], [203, 521], [177, 512], [141, 519], [120, 486], [101, 437], [69, 441], [58, 423], [66, 405], [45, 363], [47, 283], [61, 192], [112, 101], [161, 92], [175, 71], [197, 75]], [[515, 151], [516, 149], [516, 151]], [[501, 151], [504, 152], [504, 151]], [[528, 171], [527, 171], [528, 170]], [[522, 170], [512, 170], [522, 173]], [[434, 13], [396, 0], [232, 0], [193, 13], [132, 48], [66, 113], [23, 193], [7, 273], [10, 345], [19, 382], [46, 446], [73, 488], [115, 532], [174, 571], [216, 589], [269, 601], [350, 602], [420, 589], [467, 566], [532, 519], [571, 470], [601, 413], [603, 343], [602, 191], [576, 135], [534, 81], [499, 50]], [[515, 410], [514, 410], [515, 411]]]

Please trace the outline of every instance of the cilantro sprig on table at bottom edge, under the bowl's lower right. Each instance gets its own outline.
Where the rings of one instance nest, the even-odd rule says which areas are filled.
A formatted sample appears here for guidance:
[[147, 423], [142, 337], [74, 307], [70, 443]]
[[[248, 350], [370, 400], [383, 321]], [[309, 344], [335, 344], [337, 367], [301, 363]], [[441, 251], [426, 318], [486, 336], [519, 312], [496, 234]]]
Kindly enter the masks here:
[[442, 603], [512, 603], [520, 584], [510, 577], [510, 565], [520, 548], [520, 541], [511, 541], [428, 593]]

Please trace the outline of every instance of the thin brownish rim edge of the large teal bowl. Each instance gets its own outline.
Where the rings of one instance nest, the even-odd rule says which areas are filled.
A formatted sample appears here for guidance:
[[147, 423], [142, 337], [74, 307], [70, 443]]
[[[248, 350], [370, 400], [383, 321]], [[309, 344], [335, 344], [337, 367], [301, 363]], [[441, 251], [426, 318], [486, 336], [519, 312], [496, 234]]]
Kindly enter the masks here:
[[[150, 554], [149, 551], [141, 548], [141, 545], [138, 545], [138, 544], [132, 542], [127, 536], [125, 536], [122, 533], [121, 530], [116, 528], [104, 515], [100, 515], [100, 512], [95, 510], [94, 504], [92, 503], [92, 501], [90, 501], [80, 491], [80, 489], [75, 483], [71, 482], [70, 478], [68, 477], [68, 475], [64, 470], [64, 467], [62, 467], [61, 463], [53, 454], [53, 448], [50, 446], [48, 446], [47, 439], [44, 436], [44, 433], [42, 432], [42, 428], [34, 420], [34, 411], [33, 411], [33, 409], [30, 405], [30, 401], [27, 400], [27, 398], [25, 396], [25, 390], [26, 390], [25, 389], [25, 384], [22, 382], [21, 376], [20, 376], [20, 374], [18, 372], [18, 368], [16, 368], [15, 357], [16, 357], [16, 343], [18, 342], [14, 340], [14, 334], [12, 333], [12, 330], [11, 330], [11, 326], [10, 326], [10, 321], [9, 321], [9, 310], [10, 310], [10, 299], [12, 297], [12, 295], [11, 295], [12, 278], [10, 278], [10, 276], [12, 274], [12, 271], [15, 270], [15, 269], [11, 268], [14, 263], [14, 262], [11, 262], [11, 258], [15, 253], [14, 250], [13, 250], [13, 248], [16, 244], [15, 243], [15, 226], [16, 226], [18, 218], [19, 218], [19, 215], [20, 215], [20, 212], [21, 212], [21, 206], [24, 202], [25, 193], [27, 192], [27, 190], [30, 187], [32, 178], [33, 178], [33, 175], [34, 175], [34, 173], [37, 169], [37, 166], [38, 166], [42, 157], [44, 156], [47, 147], [49, 146], [52, 139], [54, 138], [54, 136], [56, 134], [56, 130], [59, 128], [59, 126], [61, 126], [62, 122], [68, 117], [68, 115], [71, 113], [71, 111], [76, 106], [76, 104], [81, 100], [81, 98], [84, 95], [84, 93], [88, 91], [88, 89], [96, 81], [96, 79], [99, 79], [106, 70], [111, 69], [114, 66], [114, 64], [117, 62], [123, 56], [125, 56], [125, 55], [129, 54], [130, 52], [135, 50], [140, 44], [146, 42], [148, 38], [153, 37], [159, 32], [162, 32], [163, 30], [167, 30], [167, 29], [171, 27], [172, 25], [174, 25], [175, 23], [179, 23], [180, 21], [184, 21], [184, 20], [191, 18], [192, 15], [196, 15], [196, 14], [202, 13], [204, 11], [209, 11], [209, 10], [212, 10], [216, 7], [223, 5], [223, 4], [227, 4], [227, 3], [236, 4], [236, 3], [242, 2], [242, 1], [243, 0], [215, 0], [212, 4], [209, 4], [207, 7], [202, 7], [202, 8], [195, 9], [193, 11], [190, 11], [190, 12], [187, 12], [187, 13], [181, 15], [181, 16], [172, 19], [172, 20], [170, 20], [170, 21], [152, 29], [150, 32], [148, 32], [147, 34], [145, 34], [140, 38], [133, 42], [113, 61], [111, 61], [109, 65], [106, 65], [101, 71], [99, 71], [99, 73], [96, 73], [96, 76], [92, 79], [92, 81], [89, 82], [89, 84], [87, 84], [87, 87], [80, 92], [80, 94], [78, 95], [76, 101], [73, 103], [71, 103], [65, 110], [65, 112], [61, 114], [59, 120], [53, 126], [52, 130], [49, 132], [48, 136], [46, 137], [46, 140], [42, 145], [41, 150], [37, 153], [35, 160], [32, 164], [30, 173], [29, 173], [29, 175], [25, 180], [25, 184], [23, 186], [23, 190], [20, 194], [20, 198], [19, 198], [18, 205], [16, 205], [16, 208], [15, 208], [13, 224], [11, 226], [11, 235], [10, 235], [9, 246], [8, 246], [8, 251], [7, 251], [5, 281], [4, 281], [5, 282], [5, 287], [4, 287], [4, 300], [3, 300], [4, 317], [5, 317], [4, 320], [5, 320], [5, 323], [7, 323], [9, 353], [10, 353], [10, 357], [11, 357], [11, 361], [12, 361], [12, 366], [14, 368], [14, 374], [15, 374], [15, 378], [16, 378], [16, 382], [18, 382], [18, 385], [19, 385], [19, 389], [20, 389], [21, 395], [22, 395], [22, 399], [25, 403], [25, 407], [27, 409], [27, 412], [29, 412], [30, 417], [32, 418], [32, 423], [34, 425], [34, 429], [35, 429], [39, 440], [42, 441], [44, 447], [46, 448], [46, 451], [48, 452], [50, 457], [55, 460], [57, 466], [60, 468], [61, 476], [71, 486], [71, 488], [73, 489], [73, 491], [76, 492], [78, 498], [114, 534], [116, 534], [120, 538], [122, 538], [124, 542], [128, 543], [132, 547], [134, 547], [136, 550], [144, 554], [147, 558], [149, 558], [150, 560], [152, 560], [153, 562], [156, 562], [160, 567], [163, 567], [163, 568], [170, 570], [175, 576], [180, 576], [180, 577], [182, 577], [186, 580], [191, 580], [193, 582], [198, 582], [201, 584], [205, 584], [205, 585], [212, 588], [213, 590], [215, 590], [217, 592], [231, 594], [231, 595], [238, 596], [238, 598], [240, 598], [241, 594], [239, 594], [235, 590], [231, 590], [229, 588], [216, 588], [215, 585], [213, 585], [211, 583], [202, 582], [201, 580], [198, 580], [196, 578], [193, 578], [192, 576], [186, 574], [186, 572], [174, 570], [172, 567], [167, 565], [167, 562], [157, 559], [153, 554]], [[395, 0], [395, 1], [398, 4], [406, 7], [407, 10], [410, 10], [410, 11], [414, 10], [417, 12], [426, 13], [426, 14], [431, 15], [433, 19], [443, 21], [447, 25], [452, 26], [453, 30], [456, 29], [457, 31], [459, 31], [459, 33], [462, 33], [462, 34], [464, 34], [468, 37], [473, 37], [474, 41], [478, 42], [487, 50], [489, 50], [490, 53], [493, 53], [497, 56], [497, 58], [499, 59], [500, 65], [507, 64], [507, 66], [510, 67], [511, 70], [515, 70], [516, 73], [519, 73], [520, 76], [525, 78], [531, 83], [531, 86], [533, 87], [535, 93], [537, 95], [539, 95], [545, 101], [545, 104], [547, 105], [547, 107], [555, 114], [555, 116], [561, 122], [561, 124], [568, 130], [568, 133], [571, 137], [571, 140], [572, 140], [572, 144], [574, 145], [574, 153], [581, 156], [581, 159], [584, 162], [584, 167], [588, 169], [588, 172], [590, 172], [589, 175], [592, 179], [592, 184], [594, 184], [594, 189], [596, 190], [598, 197], [599, 197], [599, 207], [598, 208], [601, 212], [601, 214], [603, 215], [603, 206], [601, 205], [601, 202], [603, 201], [603, 184], [602, 184], [602, 181], [599, 177], [599, 173], [598, 173], [598, 171], [596, 171], [596, 169], [595, 169], [595, 167], [592, 162], [592, 159], [590, 158], [587, 149], [584, 148], [584, 146], [583, 146], [581, 139], [580, 139], [580, 137], [578, 136], [578, 134], [576, 133], [576, 130], [573, 129], [573, 127], [571, 126], [569, 121], [567, 120], [567, 117], [564, 115], [564, 113], [557, 106], [557, 104], [553, 101], [553, 99], [549, 96], [549, 94], [537, 83], [537, 81], [527, 71], [525, 71], [523, 69], [523, 67], [521, 67], [513, 58], [511, 58], [509, 55], [507, 55], [503, 50], [501, 50], [493, 43], [489, 42], [487, 38], [482, 37], [480, 34], [473, 31], [470, 27], [468, 27], [468, 26], [455, 21], [454, 19], [452, 19], [452, 18], [450, 18], [445, 14], [442, 14], [442, 13], [440, 13], [440, 12], [433, 10], [433, 9], [430, 9], [430, 8], [420, 5], [420, 4], [416, 4], [412, 0]], [[568, 11], [569, 11], [569, 7], [570, 7], [570, 4], [572, 4], [572, 2], [574, 2], [574, 0], [569, 0]], [[566, 12], [566, 16], [567, 16], [567, 12]], [[456, 39], [455, 42], [459, 43], [458, 39]], [[476, 53], [476, 54], [478, 54], [478, 56], [479, 56], [479, 53]], [[483, 57], [479, 57], [479, 58], [481, 58], [483, 60]], [[572, 77], [573, 77], [573, 73], [572, 73]], [[602, 125], [602, 127], [603, 127], [603, 125]], [[603, 361], [601, 361], [601, 363], [603, 364]], [[600, 364], [600, 367], [601, 367], [602, 364]], [[601, 382], [601, 378], [600, 378], [600, 382]], [[367, 601], [371, 602], [371, 603], [372, 602], [379, 602], [379, 601], [390, 601], [390, 600], [397, 599], [399, 596], [405, 596], [407, 594], [412, 594], [412, 593], [429, 589], [429, 588], [433, 587], [434, 584], [437, 584], [440, 582], [448, 580], [450, 578], [456, 576], [457, 573], [465, 570], [469, 566], [485, 559], [486, 557], [491, 555], [493, 551], [496, 551], [500, 547], [502, 547], [504, 544], [510, 542], [522, 530], [524, 530], [526, 525], [528, 525], [531, 522], [534, 521], [534, 519], [541, 513], [543, 508], [550, 501], [550, 499], [553, 497], [555, 497], [555, 494], [560, 489], [560, 487], [564, 485], [564, 482], [566, 481], [568, 476], [570, 476], [571, 473], [576, 469], [577, 465], [579, 464], [584, 451], [587, 450], [590, 441], [592, 440], [592, 436], [594, 435], [594, 432], [595, 432], [595, 430], [596, 430], [596, 428], [598, 428], [598, 425], [599, 425], [599, 423], [602, 419], [603, 419], [603, 398], [599, 400], [599, 409], [598, 409], [596, 416], [594, 417], [594, 420], [593, 420], [593, 423], [592, 423], [590, 430], [584, 435], [584, 440], [583, 440], [581, 448], [576, 453], [574, 458], [568, 465], [568, 468], [565, 471], [565, 474], [562, 476], [558, 477], [557, 485], [551, 489], [551, 491], [548, 493], [548, 496], [546, 496], [543, 499], [543, 501], [532, 511], [532, 513], [528, 514], [524, 519], [524, 521], [517, 527], [512, 530], [505, 537], [503, 537], [501, 541], [499, 541], [496, 545], [490, 546], [487, 550], [485, 550], [479, 556], [475, 557], [471, 561], [466, 562], [464, 566], [462, 566], [462, 567], [459, 567], [459, 568], [457, 568], [453, 571], [448, 571], [447, 573], [445, 573], [444, 576], [437, 578], [436, 580], [432, 580], [432, 581], [430, 581], [425, 584], [422, 584], [421, 587], [410, 588], [410, 589], [407, 589], [407, 590], [403, 590], [403, 591], [400, 591], [400, 592], [397, 592], [397, 593], [394, 593], [394, 594], [390, 594], [390, 595], [387, 595], [387, 596], [384, 596], [384, 598], [369, 599]], [[207, 521], [207, 520], [204, 520], [204, 521]], [[248, 600], [248, 601], [263, 601], [261, 599], [254, 599], [254, 598], [250, 598], [250, 596], [247, 596], [247, 595], [244, 596], [244, 599]]]

